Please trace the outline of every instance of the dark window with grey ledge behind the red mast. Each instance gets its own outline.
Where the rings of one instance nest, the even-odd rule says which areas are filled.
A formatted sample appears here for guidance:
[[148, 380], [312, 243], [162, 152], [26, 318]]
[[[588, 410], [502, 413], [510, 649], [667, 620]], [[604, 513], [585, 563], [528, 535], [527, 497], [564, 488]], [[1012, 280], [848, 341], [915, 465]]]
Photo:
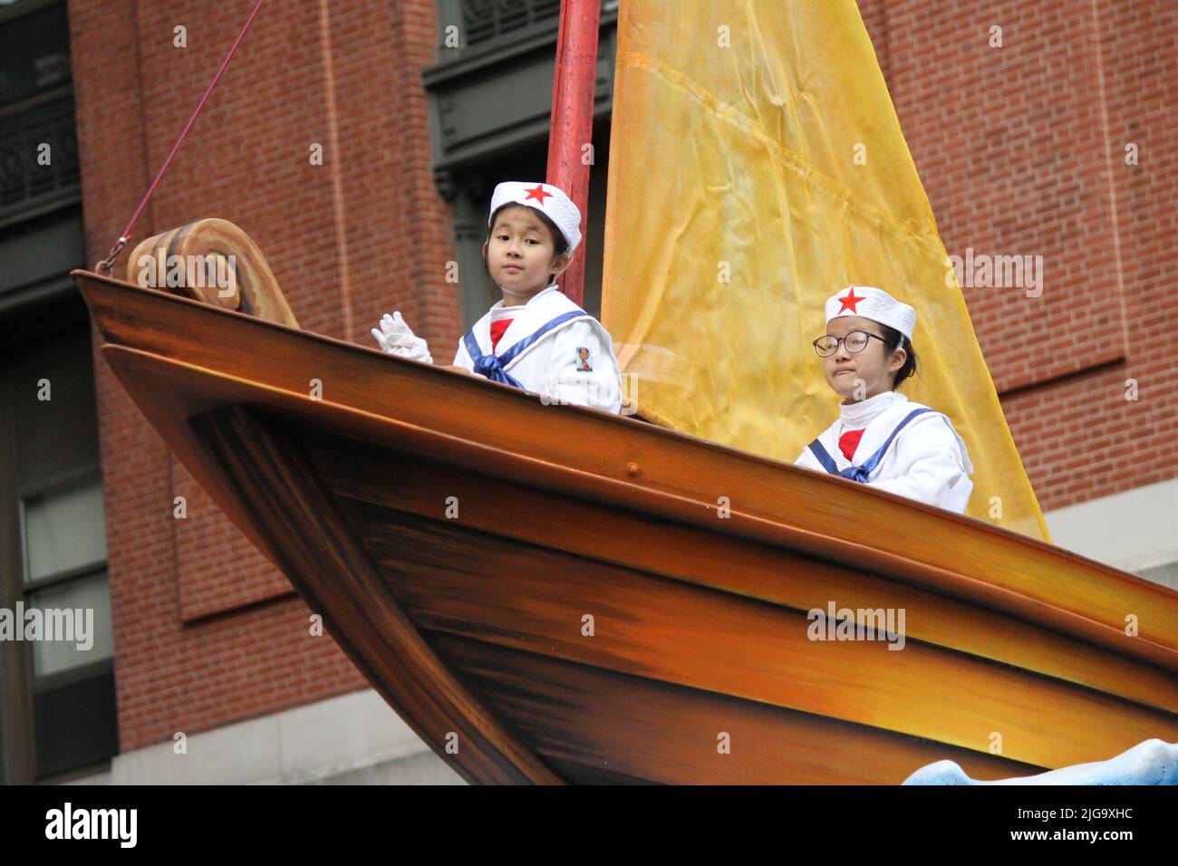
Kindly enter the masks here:
[[[544, 180], [556, 0], [437, 0], [439, 62], [423, 73], [431, 98], [434, 176], [454, 212], [463, 326], [499, 299], [483, 266], [491, 191], [501, 180]], [[601, 0], [589, 213], [582, 230], [583, 306], [601, 310], [602, 240], [617, 0]], [[457, 35], [457, 42], [450, 41]], [[462, 59], [463, 62], [454, 62]]]

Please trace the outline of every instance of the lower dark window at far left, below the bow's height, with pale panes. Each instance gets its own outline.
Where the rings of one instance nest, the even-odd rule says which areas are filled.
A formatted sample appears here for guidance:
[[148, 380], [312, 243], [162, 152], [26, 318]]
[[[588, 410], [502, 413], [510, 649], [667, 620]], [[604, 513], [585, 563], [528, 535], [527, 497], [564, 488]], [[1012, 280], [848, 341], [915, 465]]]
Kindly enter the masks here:
[[[59, 303], [55, 305], [61, 306]], [[118, 752], [106, 520], [90, 330], [0, 361], [2, 604], [40, 640], [4, 641], [4, 723], [12, 781], [44, 779]], [[24, 766], [22, 766], [24, 765]]]

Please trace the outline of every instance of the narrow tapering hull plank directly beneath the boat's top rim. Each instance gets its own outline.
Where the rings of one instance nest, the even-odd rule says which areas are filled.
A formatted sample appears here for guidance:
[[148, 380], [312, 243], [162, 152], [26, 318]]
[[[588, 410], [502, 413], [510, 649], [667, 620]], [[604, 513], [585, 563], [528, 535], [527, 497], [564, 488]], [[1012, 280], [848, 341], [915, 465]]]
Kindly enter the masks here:
[[[461, 524], [613, 563], [646, 575], [737, 594], [794, 612], [839, 607], [905, 609], [909, 640], [1020, 667], [1078, 686], [1178, 713], [1178, 677], [1169, 670], [1067, 637], [968, 601], [806, 555], [728, 538], [722, 524], [703, 531], [644, 515], [573, 501], [487, 475], [425, 463], [393, 462], [376, 447], [346, 442], [313, 427], [300, 436], [324, 483], [344, 507], [386, 509], [388, 521], [441, 520], [461, 503]], [[366, 515], [360, 520], [362, 515]], [[372, 549], [384, 547], [379, 511], [358, 510]], [[372, 523], [372, 525], [370, 525]], [[390, 536], [391, 537], [391, 536]], [[412, 544], [417, 550], [421, 544]]]

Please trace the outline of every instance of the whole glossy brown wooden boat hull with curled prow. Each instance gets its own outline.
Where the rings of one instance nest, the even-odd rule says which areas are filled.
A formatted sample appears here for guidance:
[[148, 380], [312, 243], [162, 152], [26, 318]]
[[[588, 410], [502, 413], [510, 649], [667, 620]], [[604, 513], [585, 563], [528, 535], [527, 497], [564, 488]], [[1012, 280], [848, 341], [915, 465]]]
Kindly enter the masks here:
[[[277, 322], [72, 276], [168, 447], [468, 781], [995, 779], [1178, 740], [1169, 588], [302, 331], [258, 273], [239, 304]], [[902, 649], [812, 640], [832, 602], [902, 610]]]

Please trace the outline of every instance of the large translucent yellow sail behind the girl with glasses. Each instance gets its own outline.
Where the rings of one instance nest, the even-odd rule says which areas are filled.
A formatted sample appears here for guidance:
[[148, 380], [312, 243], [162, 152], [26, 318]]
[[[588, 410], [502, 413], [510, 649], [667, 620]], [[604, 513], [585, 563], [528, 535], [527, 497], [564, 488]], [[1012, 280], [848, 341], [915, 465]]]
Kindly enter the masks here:
[[975, 472], [967, 514], [1047, 540], [854, 0], [623, 2], [602, 318], [656, 423], [793, 462], [838, 417], [810, 341], [875, 285], [916, 309], [909, 398]]

